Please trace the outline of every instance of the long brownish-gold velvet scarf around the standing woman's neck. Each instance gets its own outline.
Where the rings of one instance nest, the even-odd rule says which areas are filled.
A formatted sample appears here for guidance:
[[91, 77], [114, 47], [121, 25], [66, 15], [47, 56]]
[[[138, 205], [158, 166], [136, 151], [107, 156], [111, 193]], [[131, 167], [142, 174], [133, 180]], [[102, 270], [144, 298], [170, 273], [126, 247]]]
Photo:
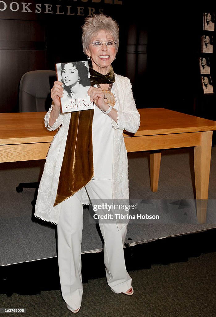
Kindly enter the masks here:
[[[112, 66], [102, 75], [89, 67], [91, 86], [115, 82]], [[71, 197], [94, 176], [92, 150], [92, 121], [94, 109], [71, 113], [65, 153], [59, 175], [59, 184], [54, 206]]]

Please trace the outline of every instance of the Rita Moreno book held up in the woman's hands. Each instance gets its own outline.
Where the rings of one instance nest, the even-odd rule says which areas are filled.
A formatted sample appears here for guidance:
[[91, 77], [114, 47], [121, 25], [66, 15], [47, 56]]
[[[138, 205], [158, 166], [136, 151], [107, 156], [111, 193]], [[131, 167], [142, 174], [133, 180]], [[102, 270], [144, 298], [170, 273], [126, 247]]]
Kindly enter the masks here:
[[93, 109], [87, 94], [91, 87], [88, 61], [55, 64], [57, 80], [63, 83], [64, 95], [60, 98], [61, 112]]

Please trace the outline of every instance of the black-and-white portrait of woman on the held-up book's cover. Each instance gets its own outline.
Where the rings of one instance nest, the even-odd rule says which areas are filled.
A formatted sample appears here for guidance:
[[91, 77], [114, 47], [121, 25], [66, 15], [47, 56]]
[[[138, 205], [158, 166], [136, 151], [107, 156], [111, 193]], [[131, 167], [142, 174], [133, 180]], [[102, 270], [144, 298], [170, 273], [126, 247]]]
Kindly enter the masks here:
[[61, 76], [61, 82], [68, 99], [88, 95], [89, 72], [83, 61], [62, 63]]

